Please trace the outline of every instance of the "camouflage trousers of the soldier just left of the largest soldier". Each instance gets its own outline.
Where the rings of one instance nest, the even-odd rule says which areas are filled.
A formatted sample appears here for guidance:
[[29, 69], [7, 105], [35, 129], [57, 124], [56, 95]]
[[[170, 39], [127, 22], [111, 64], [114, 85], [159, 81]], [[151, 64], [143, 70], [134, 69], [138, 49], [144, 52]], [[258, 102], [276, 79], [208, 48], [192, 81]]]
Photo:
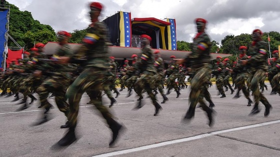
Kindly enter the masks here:
[[69, 105], [65, 100], [66, 88], [69, 83], [69, 79], [66, 78], [48, 78], [37, 88], [36, 92], [40, 97], [40, 103], [42, 108], [50, 107], [50, 103], [47, 101], [48, 94], [51, 92], [55, 96], [55, 103], [59, 111], [63, 112], [67, 117], [69, 111]]

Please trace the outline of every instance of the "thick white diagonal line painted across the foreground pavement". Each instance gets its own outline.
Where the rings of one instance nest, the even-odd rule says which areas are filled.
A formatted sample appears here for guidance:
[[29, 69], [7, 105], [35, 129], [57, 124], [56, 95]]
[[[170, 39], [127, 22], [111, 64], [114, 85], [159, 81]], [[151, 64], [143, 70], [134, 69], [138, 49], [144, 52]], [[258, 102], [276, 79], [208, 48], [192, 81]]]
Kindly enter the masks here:
[[217, 135], [217, 134], [222, 134], [222, 133], [227, 133], [227, 132], [232, 132], [232, 131], [238, 131], [238, 130], [243, 130], [243, 129], [249, 129], [249, 128], [255, 128], [255, 127], [261, 127], [261, 126], [266, 126], [266, 125], [276, 124], [276, 123], [280, 123], [280, 120], [271, 121], [271, 122], [264, 122], [264, 123], [259, 123], [259, 124], [244, 126], [244, 127], [226, 129], [226, 130], [201, 134], [201, 135], [197, 135], [197, 136], [193, 136], [193, 137], [188, 137], [188, 138], [183, 138], [183, 139], [166, 141], [166, 142], [162, 142], [162, 143], [158, 143], [158, 144], [142, 146], [142, 147], [133, 148], [133, 149], [127, 149], [127, 150], [122, 150], [122, 151], [105, 153], [105, 154], [96, 155], [96, 156], [92, 156], [92, 157], [112, 157], [112, 156], [116, 156], [116, 155], [123, 155], [123, 154], [133, 153], [133, 152], [137, 152], [137, 151], [143, 151], [143, 150], [148, 150], [148, 149], [152, 149], [152, 148], [157, 148], [157, 147], [162, 147], [162, 146], [167, 146], [167, 145], [172, 145], [172, 144], [177, 144], [177, 143], [182, 143], [182, 142], [187, 142], [187, 141], [192, 141], [192, 140], [197, 140], [197, 139], [202, 139], [202, 138], [212, 136], [212, 135]]

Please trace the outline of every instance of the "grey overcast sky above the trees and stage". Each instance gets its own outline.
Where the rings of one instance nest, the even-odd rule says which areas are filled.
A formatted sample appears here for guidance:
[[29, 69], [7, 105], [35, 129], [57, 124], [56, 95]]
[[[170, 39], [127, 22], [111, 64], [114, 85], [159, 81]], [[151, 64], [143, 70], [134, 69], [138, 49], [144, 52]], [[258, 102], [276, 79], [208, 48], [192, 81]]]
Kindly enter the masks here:
[[[6, 0], [55, 31], [85, 29], [90, 23], [91, 0]], [[99, 0], [102, 16], [116, 11], [131, 12], [134, 17], [175, 18], [177, 40], [191, 42], [194, 19], [205, 18], [206, 32], [220, 43], [225, 35], [251, 33], [253, 29], [280, 32], [280, 0]]]

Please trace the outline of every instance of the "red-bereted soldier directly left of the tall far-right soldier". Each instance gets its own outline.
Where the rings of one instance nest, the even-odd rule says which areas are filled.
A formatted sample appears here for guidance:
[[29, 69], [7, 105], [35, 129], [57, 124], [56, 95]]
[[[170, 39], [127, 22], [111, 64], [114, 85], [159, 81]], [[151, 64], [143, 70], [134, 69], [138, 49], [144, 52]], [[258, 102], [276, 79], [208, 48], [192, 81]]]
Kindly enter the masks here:
[[247, 60], [248, 56], [246, 55], [247, 47], [246, 46], [240, 46], [239, 47], [239, 58], [238, 58], [238, 64], [233, 67], [233, 73], [236, 73], [236, 80], [235, 80], [235, 87], [238, 89], [235, 96], [233, 98], [239, 98], [239, 92], [242, 90], [244, 93], [244, 96], [248, 100], [248, 105], [251, 106], [252, 101], [249, 98], [249, 91], [246, 89], [245, 81], [250, 77], [250, 71], [249, 68], [242, 64], [242, 60]]

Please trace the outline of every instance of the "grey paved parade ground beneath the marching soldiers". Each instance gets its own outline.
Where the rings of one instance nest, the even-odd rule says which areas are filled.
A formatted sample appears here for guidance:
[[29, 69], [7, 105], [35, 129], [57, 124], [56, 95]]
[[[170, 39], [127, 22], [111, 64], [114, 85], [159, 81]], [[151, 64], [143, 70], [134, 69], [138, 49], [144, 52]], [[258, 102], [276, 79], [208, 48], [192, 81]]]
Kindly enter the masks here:
[[[160, 104], [163, 110], [158, 116], [153, 116], [154, 107], [146, 95], [145, 105], [133, 110], [136, 94], [126, 98], [124, 89], [116, 98], [117, 104], [109, 109], [125, 126], [112, 148], [108, 147], [111, 132], [94, 106], [86, 104], [89, 101], [86, 94], [80, 102], [78, 140], [65, 148], [53, 147], [66, 131], [60, 129], [66, 118], [53, 98], [48, 99], [53, 105], [48, 114], [51, 120], [34, 126], [43, 114], [43, 110], [37, 108], [38, 100], [28, 109], [17, 111], [21, 105], [16, 103], [20, 100], [10, 102], [13, 96], [2, 96], [0, 157], [279, 157], [280, 96], [269, 95], [271, 87], [269, 83], [266, 85], [268, 90], [263, 94], [273, 107], [268, 117], [263, 117], [261, 103], [260, 113], [248, 116], [253, 105], [247, 106], [242, 92], [239, 99], [232, 99], [235, 93], [230, 95], [230, 90], [225, 92], [225, 98], [219, 98], [216, 86], [210, 87], [215, 104], [212, 128], [207, 125], [208, 119], [200, 108], [190, 122], [182, 120], [188, 109], [189, 87], [180, 91], [179, 98], [174, 91], [167, 95], [169, 101]], [[38, 98], [37, 94], [34, 96]], [[252, 96], [250, 98], [253, 100]], [[157, 100], [160, 103], [162, 97], [157, 95]], [[109, 105], [106, 95], [103, 95], [103, 102]]]

